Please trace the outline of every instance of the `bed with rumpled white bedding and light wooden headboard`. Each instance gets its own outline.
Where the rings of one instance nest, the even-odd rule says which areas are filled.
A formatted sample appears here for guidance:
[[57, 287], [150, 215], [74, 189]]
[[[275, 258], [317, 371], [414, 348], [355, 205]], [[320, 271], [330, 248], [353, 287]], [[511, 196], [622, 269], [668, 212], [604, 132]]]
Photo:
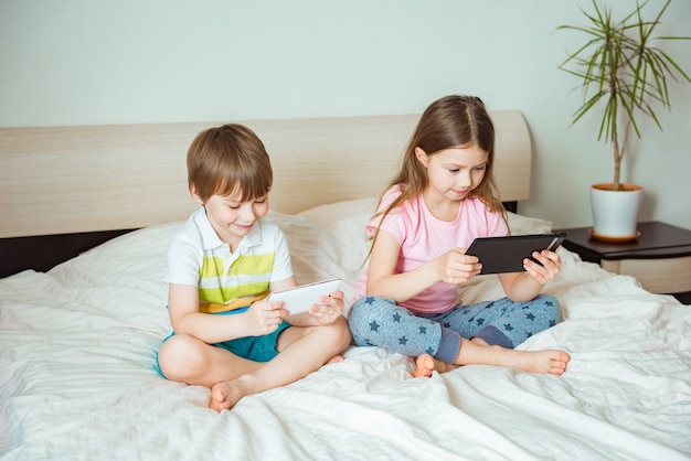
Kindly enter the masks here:
[[[339, 277], [352, 297], [364, 223], [417, 117], [243, 121], [272, 157], [266, 218], [300, 282]], [[530, 131], [520, 111], [492, 118], [515, 212]], [[160, 377], [166, 248], [195, 207], [184, 156], [212, 125], [0, 129], [1, 459], [691, 458], [691, 308], [566, 249], [545, 287], [565, 321], [519, 346], [567, 351], [561, 377], [474, 365], [413, 378], [408, 357], [350, 347], [221, 414], [208, 388]], [[518, 213], [509, 224], [551, 228]], [[501, 296], [495, 276], [461, 287], [468, 302]]]

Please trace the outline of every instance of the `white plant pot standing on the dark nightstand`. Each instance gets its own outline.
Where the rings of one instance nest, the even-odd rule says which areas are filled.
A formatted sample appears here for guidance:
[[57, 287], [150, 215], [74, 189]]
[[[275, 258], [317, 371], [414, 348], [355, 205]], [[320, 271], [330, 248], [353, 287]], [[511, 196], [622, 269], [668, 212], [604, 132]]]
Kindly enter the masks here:
[[623, 191], [613, 191], [612, 183], [591, 187], [594, 237], [636, 238], [644, 190], [635, 184], [621, 186]]

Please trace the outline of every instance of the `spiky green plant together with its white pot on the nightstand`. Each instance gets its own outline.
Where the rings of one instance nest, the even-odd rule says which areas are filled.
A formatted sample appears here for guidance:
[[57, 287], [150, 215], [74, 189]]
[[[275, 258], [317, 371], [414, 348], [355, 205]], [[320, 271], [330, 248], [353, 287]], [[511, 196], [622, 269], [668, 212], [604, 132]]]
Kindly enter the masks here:
[[[671, 0], [667, 0], [655, 18], [645, 19], [642, 9], [649, 1], [642, 4], [637, 1], [630, 13], [615, 21], [612, 9], [599, 7], [593, 0], [593, 13], [582, 10], [589, 21], [587, 26], [557, 28], [586, 36], [586, 42], [560, 65], [561, 69], [582, 81], [578, 88], [583, 90], [583, 104], [574, 112], [572, 124], [586, 114], [599, 112], [597, 140], [612, 142], [614, 181], [591, 189], [592, 236], [604, 240], [627, 242], [638, 237], [637, 216], [642, 187], [620, 180], [630, 130], [640, 139], [640, 121], [646, 117], [661, 130], [655, 106], [671, 108], [668, 82], [683, 78], [691, 83], [682, 68], [656, 46], [660, 41], [691, 37], [653, 36]], [[602, 210], [600, 205], [606, 208]]]

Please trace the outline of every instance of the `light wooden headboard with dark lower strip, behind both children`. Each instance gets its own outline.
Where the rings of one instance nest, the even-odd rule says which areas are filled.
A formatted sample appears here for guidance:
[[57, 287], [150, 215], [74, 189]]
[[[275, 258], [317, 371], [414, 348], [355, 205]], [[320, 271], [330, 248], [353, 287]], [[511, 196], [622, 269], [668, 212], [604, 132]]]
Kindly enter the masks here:
[[[531, 141], [520, 111], [491, 112], [501, 200], [529, 197]], [[376, 196], [419, 115], [240, 121], [274, 167], [273, 210]], [[221, 122], [0, 128], [0, 277], [55, 264], [195, 207], [185, 156]], [[375, 181], [372, 179], [375, 178]]]

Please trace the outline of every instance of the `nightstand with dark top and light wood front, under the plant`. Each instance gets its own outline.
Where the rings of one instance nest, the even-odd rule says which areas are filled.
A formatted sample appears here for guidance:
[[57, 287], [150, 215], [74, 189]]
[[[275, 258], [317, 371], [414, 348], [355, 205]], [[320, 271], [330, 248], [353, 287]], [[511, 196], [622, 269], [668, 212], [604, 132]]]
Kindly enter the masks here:
[[657, 221], [638, 223], [636, 240], [614, 244], [592, 238], [589, 228], [559, 229], [566, 233], [564, 248], [610, 272], [636, 277], [648, 291], [691, 304], [691, 230]]

